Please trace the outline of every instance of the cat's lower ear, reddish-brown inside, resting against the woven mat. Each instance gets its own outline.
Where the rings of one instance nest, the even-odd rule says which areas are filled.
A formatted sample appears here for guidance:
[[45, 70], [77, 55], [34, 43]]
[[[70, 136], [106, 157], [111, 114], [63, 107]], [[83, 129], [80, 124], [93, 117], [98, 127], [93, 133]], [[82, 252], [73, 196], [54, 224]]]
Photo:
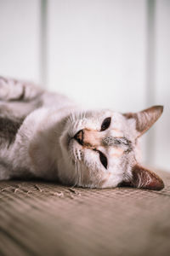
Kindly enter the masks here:
[[151, 172], [143, 166], [139, 166], [139, 164], [133, 166], [132, 177], [128, 182], [122, 183], [122, 185], [155, 190], [161, 190], [164, 188], [164, 183], [161, 177], [156, 175], [155, 172]]

